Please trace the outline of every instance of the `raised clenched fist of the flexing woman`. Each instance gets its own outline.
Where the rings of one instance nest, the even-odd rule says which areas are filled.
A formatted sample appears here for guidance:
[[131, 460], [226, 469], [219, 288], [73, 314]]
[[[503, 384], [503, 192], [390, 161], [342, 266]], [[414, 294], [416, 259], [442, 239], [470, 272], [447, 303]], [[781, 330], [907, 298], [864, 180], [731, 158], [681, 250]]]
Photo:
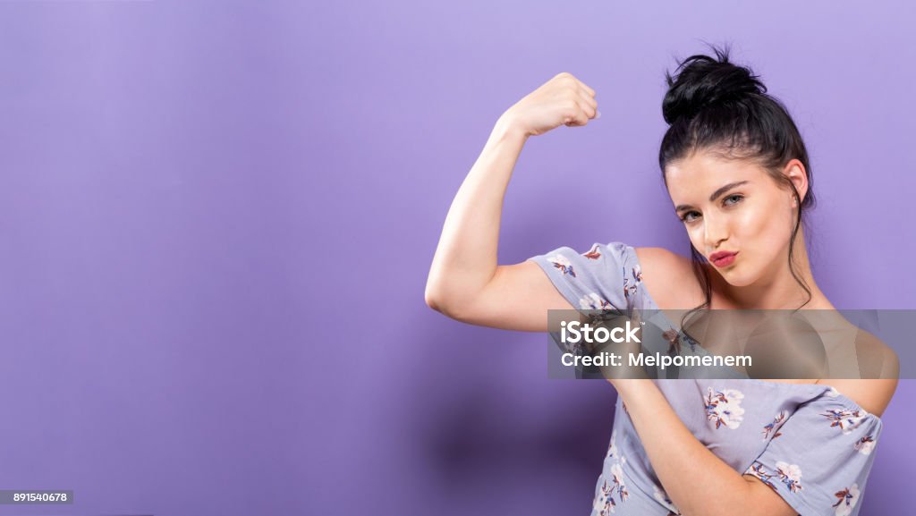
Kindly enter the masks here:
[[594, 90], [563, 71], [506, 110], [503, 118], [526, 136], [538, 136], [554, 127], [584, 126], [598, 117]]

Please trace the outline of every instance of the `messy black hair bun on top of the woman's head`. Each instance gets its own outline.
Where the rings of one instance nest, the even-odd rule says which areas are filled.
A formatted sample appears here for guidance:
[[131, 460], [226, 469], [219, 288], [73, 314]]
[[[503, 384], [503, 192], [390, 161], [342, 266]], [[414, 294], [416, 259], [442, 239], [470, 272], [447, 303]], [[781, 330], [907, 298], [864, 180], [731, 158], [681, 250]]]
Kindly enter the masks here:
[[727, 49], [713, 50], [717, 59], [697, 54], [683, 60], [675, 70], [676, 78], [665, 71], [668, 93], [661, 103], [661, 114], [669, 125], [680, 118], [692, 118], [706, 106], [767, 92], [750, 69], [729, 62]]

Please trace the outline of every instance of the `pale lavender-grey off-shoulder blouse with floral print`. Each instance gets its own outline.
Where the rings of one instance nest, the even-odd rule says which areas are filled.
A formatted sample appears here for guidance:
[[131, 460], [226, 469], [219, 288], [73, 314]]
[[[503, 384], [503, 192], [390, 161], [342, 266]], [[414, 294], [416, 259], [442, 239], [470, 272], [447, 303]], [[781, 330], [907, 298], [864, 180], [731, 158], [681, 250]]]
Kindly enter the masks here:
[[[659, 308], [642, 287], [635, 250], [622, 242], [595, 243], [584, 253], [559, 247], [529, 259], [573, 307]], [[652, 381], [703, 445], [736, 471], [759, 478], [799, 514], [858, 513], [882, 423], [855, 401], [822, 384], [702, 379], [689, 371]], [[592, 516], [607, 514], [680, 514], [619, 398], [594, 489]]]

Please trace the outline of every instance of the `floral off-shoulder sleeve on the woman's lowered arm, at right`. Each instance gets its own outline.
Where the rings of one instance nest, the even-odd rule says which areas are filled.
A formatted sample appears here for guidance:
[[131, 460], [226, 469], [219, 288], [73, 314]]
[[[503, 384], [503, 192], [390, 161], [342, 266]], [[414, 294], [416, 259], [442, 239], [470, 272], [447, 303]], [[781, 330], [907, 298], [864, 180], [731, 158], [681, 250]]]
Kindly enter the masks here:
[[746, 475], [763, 481], [804, 516], [854, 516], [875, 460], [881, 420], [836, 390], [765, 428], [763, 453]]

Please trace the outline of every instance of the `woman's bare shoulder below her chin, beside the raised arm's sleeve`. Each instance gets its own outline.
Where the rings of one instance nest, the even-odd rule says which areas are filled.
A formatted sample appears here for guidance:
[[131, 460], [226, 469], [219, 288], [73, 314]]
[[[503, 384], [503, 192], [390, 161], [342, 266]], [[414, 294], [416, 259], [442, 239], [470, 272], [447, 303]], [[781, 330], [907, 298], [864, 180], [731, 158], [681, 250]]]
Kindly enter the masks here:
[[634, 247], [642, 280], [661, 309], [692, 308], [703, 302], [692, 261], [664, 247]]

